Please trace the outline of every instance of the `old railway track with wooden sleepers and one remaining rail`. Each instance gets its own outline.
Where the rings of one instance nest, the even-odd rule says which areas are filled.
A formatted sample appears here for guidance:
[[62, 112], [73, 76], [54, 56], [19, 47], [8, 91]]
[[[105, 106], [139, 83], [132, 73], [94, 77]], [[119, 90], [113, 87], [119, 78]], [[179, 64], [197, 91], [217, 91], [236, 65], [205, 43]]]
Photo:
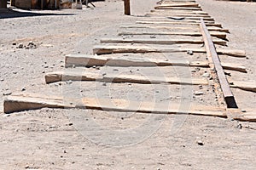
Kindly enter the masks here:
[[[4, 112], [86, 108], [255, 121], [256, 114], [242, 113], [232, 94], [232, 88], [255, 93], [255, 83], [225, 75], [225, 70], [247, 72], [236, 63], [245, 52], [227, 47], [228, 33], [193, 0], [160, 1], [135, 24], [120, 26], [117, 37], [102, 37], [93, 54], [67, 55], [64, 71], [45, 75], [47, 84], [73, 81], [85, 91], [94, 86], [92, 91], [13, 94], [4, 100]], [[221, 62], [223, 56], [230, 63]]]

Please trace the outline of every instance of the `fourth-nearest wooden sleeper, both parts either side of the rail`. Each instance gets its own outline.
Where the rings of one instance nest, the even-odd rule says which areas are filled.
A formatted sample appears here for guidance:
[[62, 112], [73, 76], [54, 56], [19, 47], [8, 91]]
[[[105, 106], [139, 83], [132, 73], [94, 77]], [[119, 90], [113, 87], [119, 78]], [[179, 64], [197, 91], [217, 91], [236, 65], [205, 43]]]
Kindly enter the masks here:
[[[188, 52], [206, 53], [204, 48], [176, 48], [176, 47], [154, 47], [138, 45], [96, 45], [93, 48], [93, 54], [115, 54], [115, 53], [178, 53]], [[218, 54], [225, 54], [234, 57], [245, 57], [243, 50], [221, 49], [217, 50]]]

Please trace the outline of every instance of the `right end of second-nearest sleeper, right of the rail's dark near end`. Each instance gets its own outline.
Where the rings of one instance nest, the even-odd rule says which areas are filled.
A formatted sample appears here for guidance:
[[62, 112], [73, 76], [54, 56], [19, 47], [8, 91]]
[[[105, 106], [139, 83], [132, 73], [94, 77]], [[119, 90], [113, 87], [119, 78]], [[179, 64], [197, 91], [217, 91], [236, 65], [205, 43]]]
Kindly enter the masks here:
[[239, 82], [239, 81], [230, 81], [231, 88], [240, 88], [241, 90], [256, 92], [256, 82]]

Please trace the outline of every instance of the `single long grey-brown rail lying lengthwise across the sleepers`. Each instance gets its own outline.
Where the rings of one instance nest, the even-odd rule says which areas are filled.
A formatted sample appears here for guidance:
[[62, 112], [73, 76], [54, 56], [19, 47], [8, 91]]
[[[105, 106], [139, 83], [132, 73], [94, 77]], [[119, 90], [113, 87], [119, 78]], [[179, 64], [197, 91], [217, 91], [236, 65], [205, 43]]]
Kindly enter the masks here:
[[213, 63], [212, 67], [216, 70], [216, 73], [218, 76], [218, 82], [220, 83], [226, 104], [228, 108], [238, 108], [236, 105], [236, 99], [231, 92], [230, 84], [226, 79], [224, 70], [220, 64], [220, 60], [218, 59], [218, 54], [212, 42], [211, 35], [207, 30], [207, 26], [205, 25], [203, 20], [201, 20], [200, 28], [204, 38], [205, 47], [207, 49], [207, 56], [209, 59], [212, 59], [212, 63]]

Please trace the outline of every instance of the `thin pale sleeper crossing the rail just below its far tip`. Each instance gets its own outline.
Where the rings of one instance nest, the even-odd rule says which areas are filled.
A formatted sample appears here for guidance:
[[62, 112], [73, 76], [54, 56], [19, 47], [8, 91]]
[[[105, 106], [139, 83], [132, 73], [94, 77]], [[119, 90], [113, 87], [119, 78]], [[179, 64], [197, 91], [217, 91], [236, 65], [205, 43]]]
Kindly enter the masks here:
[[[139, 20], [136, 21], [136, 24], [156, 24], [156, 25], [160, 25], [160, 24], [169, 24], [169, 25], [189, 25], [189, 26], [199, 26], [200, 23], [198, 22], [174, 22], [174, 21], [143, 21], [143, 20]], [[216, 26], [219, 28], [222, 28], [221, 24], [206, 24], [207, 26]]]

